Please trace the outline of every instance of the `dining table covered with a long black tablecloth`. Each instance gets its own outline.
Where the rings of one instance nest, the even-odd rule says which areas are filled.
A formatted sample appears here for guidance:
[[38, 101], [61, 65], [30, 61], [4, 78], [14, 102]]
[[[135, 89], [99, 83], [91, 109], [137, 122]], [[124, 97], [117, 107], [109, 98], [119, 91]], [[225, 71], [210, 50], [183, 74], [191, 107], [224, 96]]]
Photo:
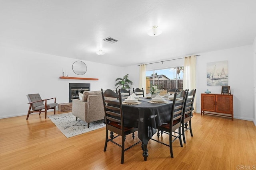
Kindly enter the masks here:
[[122, 104], [124, 126], [138, 128], [138, 138], [142, 141], [143, 157], [148, 158], [148, 141], [156, 133], [157, 127], [170, 121], [172, 100], [153, 102], [151, 98], [140, 97], [138, 103]]

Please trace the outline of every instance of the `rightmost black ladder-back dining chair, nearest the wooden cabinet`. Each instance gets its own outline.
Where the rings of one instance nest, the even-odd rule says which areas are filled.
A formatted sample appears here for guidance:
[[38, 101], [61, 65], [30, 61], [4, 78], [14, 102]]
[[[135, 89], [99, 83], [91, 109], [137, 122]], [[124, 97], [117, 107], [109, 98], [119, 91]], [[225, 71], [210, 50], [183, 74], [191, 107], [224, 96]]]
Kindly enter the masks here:
[[[183, 117], [182, 117], [182, 136], [183, 136], [183, 142], [186, 143], [185, 139], [185, 131], [190, 130], [190, 135], [193, 137], [192, 133], [192, 126], [191, 126], [191, 118], [193, 116], [193, 104], [194, 104], [194, 99], [196, 96], [196, 89], [191, 90], [186, 98], [186, 105], [183, 109]], [[188, 122], [189, 122], [189, 127], [188, 127]]]

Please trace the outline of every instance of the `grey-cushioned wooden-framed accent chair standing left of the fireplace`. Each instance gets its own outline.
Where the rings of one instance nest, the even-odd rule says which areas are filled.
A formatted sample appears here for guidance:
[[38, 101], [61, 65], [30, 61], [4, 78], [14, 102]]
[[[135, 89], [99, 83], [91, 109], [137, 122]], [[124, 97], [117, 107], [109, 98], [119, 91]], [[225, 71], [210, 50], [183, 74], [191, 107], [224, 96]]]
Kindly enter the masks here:
[[[39, 115], [41, 114], [41, 112], [44, 112], [44, 118], [46, 119], [48, 109], [54, 109], [54, 115], [55, 115], [55, 109], [56, 109], [56, 106], [58, 105], [56, 103], [56, 98], [42, 100], [42, 98], [40, 97], [39, 94], [28, 94], [26, 96], [27, 96], [28, 102], [29, 102], [28, 103], [29, 109], [28, 109], [27, 120], [28, 120], [30, 113], [34, 113], [34, 112], [39, 112]], [[51, 100], [51, 99], [54, 99], [54, 103], [48, 104], [47, 100]], [[42, 111], [42, 109], [44, 109], [44, 110]]]

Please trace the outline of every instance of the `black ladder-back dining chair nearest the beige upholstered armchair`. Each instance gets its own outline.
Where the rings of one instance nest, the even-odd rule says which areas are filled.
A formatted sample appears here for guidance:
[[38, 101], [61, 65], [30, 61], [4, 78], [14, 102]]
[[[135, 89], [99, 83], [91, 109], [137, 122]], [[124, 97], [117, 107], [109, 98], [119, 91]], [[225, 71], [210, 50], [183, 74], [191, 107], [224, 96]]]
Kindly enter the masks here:
[[[124, 149], [125, 136], [138, 131], [138, 128], [124, 126], [122, 95], [121, 95], [120, 89], [118, 90], [118, 94], [116, 94], [110, 89], [107, 89], [105, 92], [103, 92], [103, 90], [101, 89], [101, 94], [102, 94], [103, 106], [105, 111], [105, 123], [106, 123], [106, 140], [105, 140], [104, 152], [107, 149], [108, 142], [112, 142], [117, 146], [121, 147], [122, 148], [121, 164], [123, 164], [124, 152], [141, 142], [141, 141], [138, 141], [134, 143], [132, 146]], [[118, 101], [108, 100], [108, 98], [119, 98], [119, 100]], [[109, 139], [108, 131], [114, 132], [117, 135]], [[116, 139], [116, 137], [119, 137], [119, 136], [122, 137], [122, 145], [113, 141], [114, 139]]]

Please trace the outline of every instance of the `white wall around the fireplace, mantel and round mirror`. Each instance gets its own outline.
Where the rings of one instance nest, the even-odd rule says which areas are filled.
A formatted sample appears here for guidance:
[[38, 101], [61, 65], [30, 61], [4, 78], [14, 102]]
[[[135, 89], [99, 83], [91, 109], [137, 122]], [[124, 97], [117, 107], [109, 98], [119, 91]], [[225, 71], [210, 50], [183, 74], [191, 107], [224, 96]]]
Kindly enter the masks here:
[[[29, 107], [27, 94], [39, 93], [43, 99], [56, 97], [57, 103], [66, 103], [69, 83], [90, 83], [91, 90], [114, 89], [115, 79], [123, 76], [122, 67], [90, 61], [84, 61], [87, 72], [79, 76], [72, 70], [75, 61], [66, 57], [0, 47], [0, 118], [26, 115]], [[99, 80], [59, 79], [62, 69], [69, 77]]]

